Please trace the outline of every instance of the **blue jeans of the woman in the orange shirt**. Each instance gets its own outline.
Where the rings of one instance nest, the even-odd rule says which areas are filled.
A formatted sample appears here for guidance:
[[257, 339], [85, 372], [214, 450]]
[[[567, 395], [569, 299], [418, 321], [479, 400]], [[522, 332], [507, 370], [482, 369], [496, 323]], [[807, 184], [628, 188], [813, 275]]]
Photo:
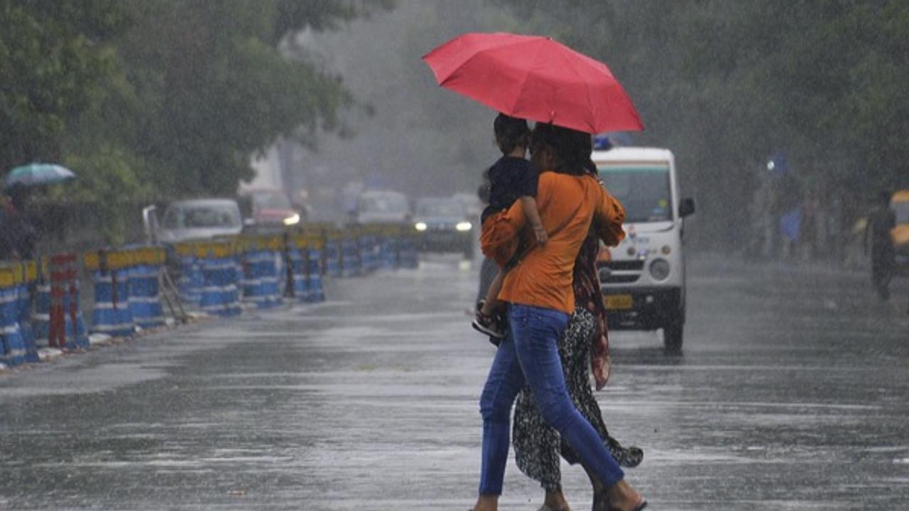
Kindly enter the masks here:
[[508, 431], [514, 398], [524, 378], [544, 420], [553, 426], [605, 486], [624, 473], [603, 445], [596, 430], [574, 407], [565, 388], [556, 342], [568, 324], [568, 315], [534, 306], [508, 306], [508, 335], [499, 345], [480, 397], [483, 416], [483, 465], [480, 495], [502, 495]]

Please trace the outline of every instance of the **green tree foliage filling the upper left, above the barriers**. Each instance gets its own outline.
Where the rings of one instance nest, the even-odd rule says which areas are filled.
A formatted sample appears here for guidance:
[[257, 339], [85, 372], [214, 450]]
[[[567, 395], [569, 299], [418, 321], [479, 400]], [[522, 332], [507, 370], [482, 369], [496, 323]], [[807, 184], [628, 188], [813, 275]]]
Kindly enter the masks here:
[[[280, 46], [390, 0], [0, 0], [0, 169], [63, 161], [63, 198], [231, 195], [280, 136], [335, 129], [340, 77]], [[118, 229], [115, 229], [118, 230]]]

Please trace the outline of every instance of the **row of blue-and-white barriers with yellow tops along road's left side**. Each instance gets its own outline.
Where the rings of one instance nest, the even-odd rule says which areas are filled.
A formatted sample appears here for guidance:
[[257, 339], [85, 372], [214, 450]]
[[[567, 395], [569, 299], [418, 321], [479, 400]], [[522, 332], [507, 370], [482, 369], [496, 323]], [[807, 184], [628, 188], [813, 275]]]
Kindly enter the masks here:
[[[0, 266], [0, 367], [36, 362], [42, 345], [65, 352], [89, 346], [80, 269], [93, 277], [91, 331], [131, 337], [165, 325], [161, 286], [171, 282], [164, 278], [165, 268], [180, 274], [174, 300], [180, 296], [187, 306], [212, 316], [236, 316], [241, 302], [266, 308], [285, 298], [324, 301], [323, 276], [413, 268], [418, 261], [412, 230], [405, 225], [306, 225], [272, 235], [95, 250], [82, 257], [58, 254]], [[166, 302], [176, 316], [172, 299]]]

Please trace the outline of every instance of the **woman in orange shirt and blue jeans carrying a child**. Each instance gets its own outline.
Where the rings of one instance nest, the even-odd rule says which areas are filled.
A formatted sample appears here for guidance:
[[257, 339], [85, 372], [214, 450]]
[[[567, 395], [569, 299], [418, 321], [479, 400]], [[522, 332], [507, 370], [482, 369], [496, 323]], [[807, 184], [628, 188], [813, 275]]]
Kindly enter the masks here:
[[[525, 383], [545, 421], [603, 483], [594, 504], [608, 506], [604, 511], [637, 511], [646, 506], [644, 497], [624, 481], [622, 469], [594, 427], [572, 404], [556, 347], [574, 310], [574, 260], [588, 232], [593, 227], [606, 245], [617, 245], [624, 237], [624, 208], [593, 176], [585, 175], [584, 167], [592, 165], [589, 136], [553, 125], [538, 124], [534, 129], [531, 156], [544, 170], [536, 203], [549, 239], [529, 250], [508, 272], [499, 295], [508, 303], [509, 328], [480, 397], [483, 453], [474, 511], [498, 508], [511, 409]], [[507, 247], [514, 246], [517, 236], [532, 236], [524, 233], [527, 220], [520, 206], [512, 206], [487, 225], [483, 252], [497, 262], [511, 257]]]

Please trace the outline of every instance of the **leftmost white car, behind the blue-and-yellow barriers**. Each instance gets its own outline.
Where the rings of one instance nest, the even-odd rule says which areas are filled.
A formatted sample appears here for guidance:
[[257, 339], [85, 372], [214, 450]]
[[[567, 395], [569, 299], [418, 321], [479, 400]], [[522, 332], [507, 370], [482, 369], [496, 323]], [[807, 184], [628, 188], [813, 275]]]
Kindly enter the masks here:
[[152, 243], [179, 243], [243, 232], [240, 206], [233, 199], [180, 200], [167, 205], [160, 221], [157, 207], [143, 210], [145, 234]]

